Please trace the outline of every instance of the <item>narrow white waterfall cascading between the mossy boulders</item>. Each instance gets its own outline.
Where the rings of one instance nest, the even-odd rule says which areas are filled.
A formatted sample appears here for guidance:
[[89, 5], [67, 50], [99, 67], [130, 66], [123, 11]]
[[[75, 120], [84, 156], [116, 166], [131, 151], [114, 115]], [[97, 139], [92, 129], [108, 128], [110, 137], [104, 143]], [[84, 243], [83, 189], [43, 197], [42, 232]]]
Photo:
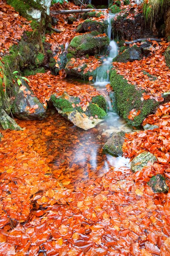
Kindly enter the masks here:
[[118, 46], [114, 40], [111, 40], [112, 35], [112, 27], [111, 27], [111, 19], [115, 16], [115, 14], [110, 13], [108, 15], [108, 38], [110, 39], [109, 44], [109, 54], [104, 59], [102, 65], [97, 68], [97, 76], [95, 85], [105, 86], [109, 83], [109, 71], [113, 61], [113, 58], [118, 54]]

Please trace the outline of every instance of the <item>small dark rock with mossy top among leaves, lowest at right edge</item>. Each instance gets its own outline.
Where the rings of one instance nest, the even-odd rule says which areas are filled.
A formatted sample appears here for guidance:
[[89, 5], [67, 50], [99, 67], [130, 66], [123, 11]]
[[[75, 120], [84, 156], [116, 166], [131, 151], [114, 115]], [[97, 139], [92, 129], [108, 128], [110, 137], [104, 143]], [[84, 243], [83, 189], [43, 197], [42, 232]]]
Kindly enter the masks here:
[[153, 176], [150, 181], [148, 182], [148, 185], [152, 188], [154, 193], [166, 193], [169, 190], [169, 187], [166, 184], [165, 178], [161, 174], [157, 174]]

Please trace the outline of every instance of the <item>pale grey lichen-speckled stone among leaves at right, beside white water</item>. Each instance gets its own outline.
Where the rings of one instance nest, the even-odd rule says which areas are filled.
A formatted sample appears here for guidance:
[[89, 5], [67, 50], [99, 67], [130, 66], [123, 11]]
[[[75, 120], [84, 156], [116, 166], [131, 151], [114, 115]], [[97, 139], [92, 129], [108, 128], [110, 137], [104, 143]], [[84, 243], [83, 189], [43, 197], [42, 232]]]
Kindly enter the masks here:
[[141, 154], [137, 155], [132, 161], [130, 162], [130, 168], [133, 173], [136, 173], [137, 171], [141, 171], [144, 166], [148, 165], [148, 162], [151, 162], [152, 164], [157, 161], [157, 158], [155, 155], [151, 154], [150, 152], [142, 152]]

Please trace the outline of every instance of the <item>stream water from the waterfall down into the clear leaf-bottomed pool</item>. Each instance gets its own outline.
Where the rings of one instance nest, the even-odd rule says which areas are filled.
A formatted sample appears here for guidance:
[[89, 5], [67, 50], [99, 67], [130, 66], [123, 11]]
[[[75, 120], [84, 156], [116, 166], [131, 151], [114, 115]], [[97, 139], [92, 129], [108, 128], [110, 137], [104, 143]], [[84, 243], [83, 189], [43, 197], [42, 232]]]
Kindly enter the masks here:
[[[113, 14], [108, 17], [108, 37], [111, 39], [111, 18]], [[108, 115], [95, 128], [90, 130], [82, 130], [65, 121], [64, 129], [62, 130], [63, 137], [58, 138], [56, 134], [53, 139], [49, 141], [49, 150], [52, 155], [55, 151], [58, 154], [53, 159], [51, 167], [53, 175], [62, 180], [63, 177], [70, 177], [72, 186], [76, 188], [85, 186], [84, 184], [93, 180], [93, 178], [101, 177], [107, 173], [110, 168], [120, 168], [121, 166], [128, 166], [129, 159], [124, 157], [112, 157], [102, 153], [102, 146], [111, 137], [113, 132], [124, 130], [130, 132], [131, 128], [126, 125], [126, 122], [112, 110], [112, 103], [108, 92], [106, 91], [106, 84], [109, 83], [109, 70], [113, 58], [118, 54], [118, 47], [114, 40], [110, 40], [108, 56], [102, 56], [103, 63], [97, 69], [97, 78], [95, 83], [89, 82], [94, 88], [99, 90], [104, 95], [108, 102]], [[76, 83], [75, 80], [69, 79], [68, 82]], [[83, 81], [82, 81], [83, 83]], [[58, 117], [62, 119], [62, 117]], [[62, 119], [62, 122], [64, 120]], [[58, 125], [58, 124], [55, 124]], [[57, 143], [55, 143], [57, 141]], [[77, 143], [75, 141], [78, 141]], [[62, 150], [61, 150], [62, 145]]]

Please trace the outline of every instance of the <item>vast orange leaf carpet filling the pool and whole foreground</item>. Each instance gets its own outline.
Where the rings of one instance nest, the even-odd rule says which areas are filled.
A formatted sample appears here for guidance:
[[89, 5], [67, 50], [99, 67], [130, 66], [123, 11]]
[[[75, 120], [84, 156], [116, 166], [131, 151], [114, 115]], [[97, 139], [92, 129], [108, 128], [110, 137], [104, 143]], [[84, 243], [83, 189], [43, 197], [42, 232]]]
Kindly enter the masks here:
[[96, 128], [56, 113], [17, 122], [0, 143], [0, 255], [170, 255], [170, 193], [126, 167], [106, 173]]

